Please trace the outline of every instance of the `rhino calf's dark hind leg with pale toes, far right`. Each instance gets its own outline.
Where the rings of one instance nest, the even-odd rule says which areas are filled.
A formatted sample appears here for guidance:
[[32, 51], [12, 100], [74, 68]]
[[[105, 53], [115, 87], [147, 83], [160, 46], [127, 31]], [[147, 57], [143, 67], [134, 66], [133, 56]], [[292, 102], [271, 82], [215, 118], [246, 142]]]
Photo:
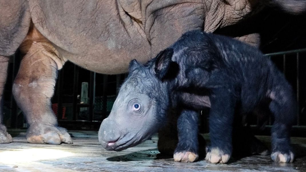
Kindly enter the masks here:
[[290, 130], [296, 120], [296, 100], [291, 86], [285, 80], [280, 83], [281, 86], [272, 90], [269, 105], [275, 119], [271, 129], [271, 158], [278, 163], [292, 163], [294, 154], [290, 145]]

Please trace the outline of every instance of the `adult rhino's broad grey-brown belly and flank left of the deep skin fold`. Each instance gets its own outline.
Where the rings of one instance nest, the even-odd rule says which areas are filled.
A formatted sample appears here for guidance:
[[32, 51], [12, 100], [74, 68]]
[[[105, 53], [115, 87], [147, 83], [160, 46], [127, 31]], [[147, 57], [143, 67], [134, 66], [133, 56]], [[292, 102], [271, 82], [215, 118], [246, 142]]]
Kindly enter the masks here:
[[132, 59], [151, 58], [151, 45], [140, 24], [118, 17], [125, 13], [118, 11], [115, 1], [29, 1], [29, 5], [35, 28], [63, 58], [81, 67], [118, 74], [127, 71]]

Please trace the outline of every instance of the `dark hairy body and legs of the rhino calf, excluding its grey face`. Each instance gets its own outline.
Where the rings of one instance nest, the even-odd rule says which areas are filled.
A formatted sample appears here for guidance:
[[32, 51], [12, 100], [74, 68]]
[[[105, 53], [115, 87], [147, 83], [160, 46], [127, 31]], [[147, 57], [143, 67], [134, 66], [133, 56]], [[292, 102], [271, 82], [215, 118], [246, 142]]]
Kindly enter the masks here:
[[[152, 93], [151, 89], [157, 89], [168, 95], [169, 102], [159, 97], [161, 107], [181, 111], [177, 119], [179, 141], [175, 152], [198, 152], [197, 111], [210, 107], [211, 146], [208, 151], [218, 148], [231, 155], [235, 112], [247, 115], [262, 102], [269, 102], [267, 106], [275, 121], [272, 155], [273, 152], [290, 155], [295, 96], [284, 75], [256, 48], [224, 36], [189, 31], [137, 70], [146, 73], [140, 80], [155, 82], [156, 88], [147, 82], [141, 86], [147, 88], [148, 94]], [[164, 115], [159, 114], [163, 121]]]

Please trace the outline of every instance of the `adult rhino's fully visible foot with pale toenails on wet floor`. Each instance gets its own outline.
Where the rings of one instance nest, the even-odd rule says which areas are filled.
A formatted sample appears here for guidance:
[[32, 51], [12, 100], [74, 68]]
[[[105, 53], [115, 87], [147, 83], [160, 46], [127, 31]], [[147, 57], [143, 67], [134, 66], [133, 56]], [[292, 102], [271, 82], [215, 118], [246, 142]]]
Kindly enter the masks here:
[[53, 125], [33, 123], [27, 131], [29, 143], [47, 143], [59, 145], [61, 143], [72, 144], [72, 139], [65, 128]]

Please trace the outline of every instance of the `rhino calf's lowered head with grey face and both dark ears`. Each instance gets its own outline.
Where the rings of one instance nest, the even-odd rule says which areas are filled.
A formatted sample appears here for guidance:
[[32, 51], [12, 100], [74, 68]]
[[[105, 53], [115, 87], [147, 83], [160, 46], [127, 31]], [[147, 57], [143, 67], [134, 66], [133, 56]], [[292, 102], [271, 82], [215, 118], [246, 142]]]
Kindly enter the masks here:
[[99, 142], [106, 150], [121, 151], [135, 146], [165, 123], [169, 96], [162, 78], [172, 55], [173, 49], [166, 49], [147, 64], [130, 62], [129, 76], [99, 129]]

